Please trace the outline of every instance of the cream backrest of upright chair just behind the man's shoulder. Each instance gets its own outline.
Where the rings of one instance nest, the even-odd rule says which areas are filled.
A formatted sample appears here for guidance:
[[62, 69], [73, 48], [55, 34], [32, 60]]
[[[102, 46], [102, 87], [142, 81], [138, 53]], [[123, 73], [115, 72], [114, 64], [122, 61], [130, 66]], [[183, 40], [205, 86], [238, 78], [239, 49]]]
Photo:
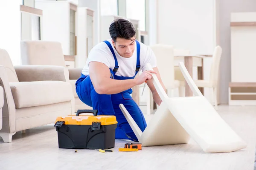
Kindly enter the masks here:
[[174, 84], [174, 54], [172, 45], [155, 44], [150, 48], [157, 58], [157, 68], [166, 88]]

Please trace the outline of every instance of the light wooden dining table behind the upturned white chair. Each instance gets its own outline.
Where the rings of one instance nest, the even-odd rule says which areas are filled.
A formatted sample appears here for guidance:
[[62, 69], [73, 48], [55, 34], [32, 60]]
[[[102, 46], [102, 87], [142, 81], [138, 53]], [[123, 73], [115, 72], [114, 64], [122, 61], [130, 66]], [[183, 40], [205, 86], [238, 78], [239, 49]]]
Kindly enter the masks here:
[[[193, 75], [193, 67], [198, 68], [198, 79], [204, 79], [204, 57], [212, 57], [212, 55], [178, 55], [174, 56], [175, 66], [179, 66], [179, 62], [184, 62], [186, 69], [188, 70], [190, 76]], [[133, 88], [132, 98], [139, 105], [140, 94], [139, 94], [139, 85]], [[204, 95], [204, 88], [199, 88], [201, 93]], [[185, 81], [185, 96], [193, 96], [192, 90], [189, 88], [189, 85]]]

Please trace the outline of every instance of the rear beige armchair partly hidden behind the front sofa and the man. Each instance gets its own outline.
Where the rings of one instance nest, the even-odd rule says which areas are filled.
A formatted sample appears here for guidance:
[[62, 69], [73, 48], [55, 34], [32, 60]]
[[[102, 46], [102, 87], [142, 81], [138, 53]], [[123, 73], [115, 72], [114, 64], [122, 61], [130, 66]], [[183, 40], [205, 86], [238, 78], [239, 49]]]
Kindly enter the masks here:
[[[60, 42], [23, 40], [20, 43], [22, 65], [59, 65], [65, 67], [64, 54]], [[85, 57], [85, 56], [84, 56]], [[76, 94], [76, 80], [81, 76], [82, 68], [68, 68], [69, 82], [75, 97], [75, 112], [78, 109], [92, 109], [85, 105]]]

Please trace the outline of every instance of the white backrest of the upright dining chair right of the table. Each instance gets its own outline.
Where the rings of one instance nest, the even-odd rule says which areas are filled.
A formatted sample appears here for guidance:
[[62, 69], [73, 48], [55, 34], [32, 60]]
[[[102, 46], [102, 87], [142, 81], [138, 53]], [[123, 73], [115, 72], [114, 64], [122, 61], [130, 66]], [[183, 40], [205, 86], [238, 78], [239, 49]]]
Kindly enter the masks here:
[[215, 47], [214, 53], [212, 55], [212, 65], [211, 65], [211, 71], [210, 71], [210, 82], [212, 82], [214, 86], [217, 86], [217, 82], [218, 82], [218, 73], [219, 73], [221, 54], [222, 54], [222, 48], [218, 45]]

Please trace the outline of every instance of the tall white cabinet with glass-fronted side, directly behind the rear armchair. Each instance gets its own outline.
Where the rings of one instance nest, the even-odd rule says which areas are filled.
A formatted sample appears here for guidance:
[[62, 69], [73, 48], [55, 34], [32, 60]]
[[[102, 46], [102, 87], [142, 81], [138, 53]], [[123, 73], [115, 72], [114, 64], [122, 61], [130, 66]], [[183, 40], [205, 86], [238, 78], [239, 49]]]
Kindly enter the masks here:
[[63, 54], [73, 58], [65, 61], [66, 67], [75, 68], [77, 5], [69, 1], [35, 1], [35, 8], [44, 14], [41, 40], [60, 42]]

